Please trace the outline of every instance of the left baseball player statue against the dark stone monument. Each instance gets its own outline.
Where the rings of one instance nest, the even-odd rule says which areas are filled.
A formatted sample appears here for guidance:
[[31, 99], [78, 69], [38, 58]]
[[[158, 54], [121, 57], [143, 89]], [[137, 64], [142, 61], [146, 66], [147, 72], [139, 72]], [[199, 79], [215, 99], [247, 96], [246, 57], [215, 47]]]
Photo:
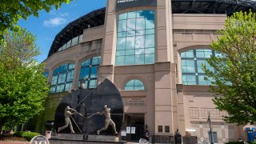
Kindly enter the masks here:
[[[71, 111], [74, 111], [74, 113], [71, 113]], [[79, 115], [83, 116], [82, 114], [78, 113], [77, 110], [74, 110], [74, 109], [70, 108], [70, 106], [66, 106], [65, 112], [64, 112], [64, 116], [65, 116], [65, 126], [59, 127], [59, 128], [58, 128], [58, 132], [61, 131], [61, 130], [66, 129], [68, 126], [70, 126], [71, 133], [74, 134], [72, 122], [71, 122], [71, 120], [70, 120], [70, 117], [71, 117], [71, 115], [73, 115], [73, 114], [79, 114]]]

